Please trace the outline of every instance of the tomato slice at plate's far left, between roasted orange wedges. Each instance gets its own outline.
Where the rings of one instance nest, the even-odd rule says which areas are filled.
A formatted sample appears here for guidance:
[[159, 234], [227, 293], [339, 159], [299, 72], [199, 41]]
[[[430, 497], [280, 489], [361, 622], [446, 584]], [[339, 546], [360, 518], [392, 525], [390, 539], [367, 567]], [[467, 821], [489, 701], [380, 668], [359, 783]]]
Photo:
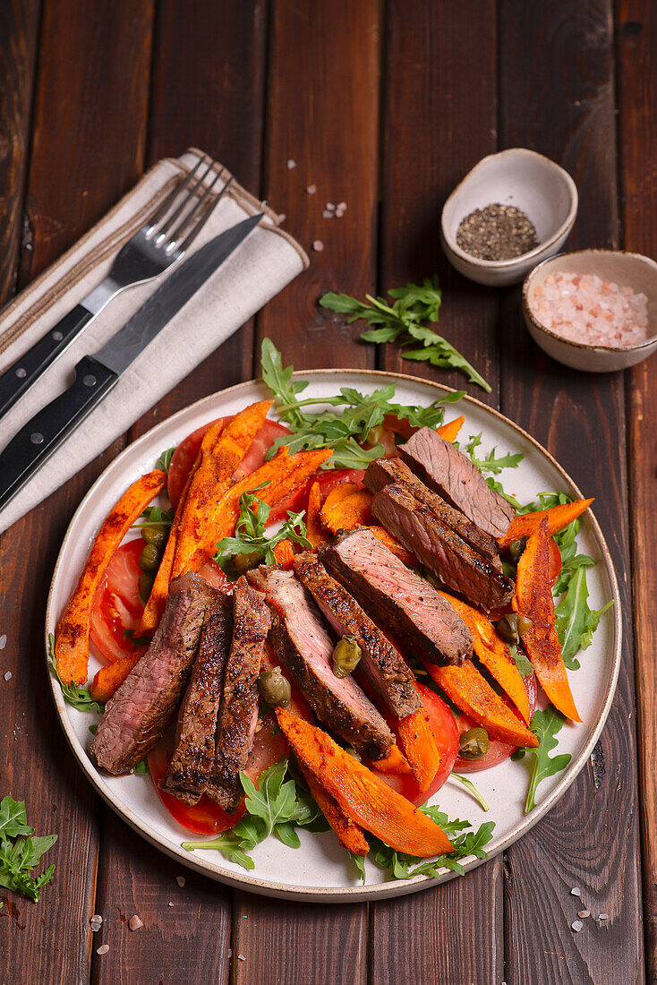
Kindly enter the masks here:
[[91, 637], [101, 655], [113, 663], [139, 645], [131, 643], [125, 630], [135, 630], [144, 612], [139, 598], [138, 559], [144, 541], [137, 537], [122, 544], [107, 564], [92, 608]]

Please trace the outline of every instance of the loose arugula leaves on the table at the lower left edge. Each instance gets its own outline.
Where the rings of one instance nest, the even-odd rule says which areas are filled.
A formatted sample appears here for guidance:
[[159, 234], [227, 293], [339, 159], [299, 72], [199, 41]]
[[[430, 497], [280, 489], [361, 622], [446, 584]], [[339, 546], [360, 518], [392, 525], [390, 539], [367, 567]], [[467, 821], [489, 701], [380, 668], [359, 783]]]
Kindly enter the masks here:
[[22, 892], [36, 903], [40, 890], [52, 879], [54, 865], [36, 878], [32, 872], [57, 840], [56, 834], [33, 835], [27, 823], [25, 801], [15, 801], [7, 795], [0, 802], [0, 886]]

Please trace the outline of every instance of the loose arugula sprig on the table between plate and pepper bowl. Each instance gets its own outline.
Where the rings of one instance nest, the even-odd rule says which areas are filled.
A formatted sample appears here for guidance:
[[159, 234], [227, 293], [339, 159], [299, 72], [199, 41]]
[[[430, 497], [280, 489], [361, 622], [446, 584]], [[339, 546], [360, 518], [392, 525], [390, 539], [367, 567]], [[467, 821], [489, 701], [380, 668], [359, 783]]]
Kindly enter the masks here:
[[332, 292], [320, 297], [319, 303], [322, 307], [349, 315], [347, 320], [350, 324], [362, 319], [370, 325], [383, 326], [363, 332], [363, 342], [381, 344], [396, 342], [400, 338], [403, 346], [408, 346], [411, 340], [422, 342], [422, 349], [403, 349], [402, 359], [422, 360], [434, 366], [462, 369], [470, 382], [477, 383], [487, 393], [491, 392], [484, 377], [450, 342], [422, 324], [438, 320], [442, 296], [437, 277], [426, 277], [422, 285], [407, 284], [405, 288], [396, 288], [388, 294], [393, 298], [392, 304], [385, 297], [366, 295], [368, 303], [364, 303], [356, 297]]

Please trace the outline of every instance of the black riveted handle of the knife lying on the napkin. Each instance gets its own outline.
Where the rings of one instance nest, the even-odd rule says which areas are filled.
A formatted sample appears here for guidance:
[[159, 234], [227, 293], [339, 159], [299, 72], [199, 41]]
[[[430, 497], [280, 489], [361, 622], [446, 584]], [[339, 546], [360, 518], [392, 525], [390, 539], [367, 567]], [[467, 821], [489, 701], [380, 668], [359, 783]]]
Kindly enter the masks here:
[[76, 363], [73, 385], [35, 414], [0, 455], [0, 509], [94, 410], [117, 379], [117, 373], [91, 356]]

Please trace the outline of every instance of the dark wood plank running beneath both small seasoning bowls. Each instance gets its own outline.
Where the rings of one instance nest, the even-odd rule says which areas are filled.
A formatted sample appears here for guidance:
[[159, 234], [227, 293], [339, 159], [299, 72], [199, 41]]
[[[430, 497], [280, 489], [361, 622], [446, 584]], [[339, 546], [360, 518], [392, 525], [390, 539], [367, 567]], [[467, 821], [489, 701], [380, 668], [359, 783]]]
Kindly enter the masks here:
[[[502, 0], [500, 140], [563, 164], [579, 188], [569, 246], [618, 241], [612, 11], [607, 0], [537, 7]], [[521, 324], [517, 292], [502, 310], [508, 338], [502, 410], [526, 427], [587, 495], [617, 566], [624, 614], [619, 689], [594, 760], [550, 816], [505, 858], [505, 969], [509, 985], [635, 982], [643, 975], [636, 824], [634, 699], [627, 579], [624, 381], [545, 358]], [[585, 658], [584, 658], [585, 659]], [[580, 900], [570, 888], [581, 888]], [[581, 905], [610, 919], [569, 925]]]

